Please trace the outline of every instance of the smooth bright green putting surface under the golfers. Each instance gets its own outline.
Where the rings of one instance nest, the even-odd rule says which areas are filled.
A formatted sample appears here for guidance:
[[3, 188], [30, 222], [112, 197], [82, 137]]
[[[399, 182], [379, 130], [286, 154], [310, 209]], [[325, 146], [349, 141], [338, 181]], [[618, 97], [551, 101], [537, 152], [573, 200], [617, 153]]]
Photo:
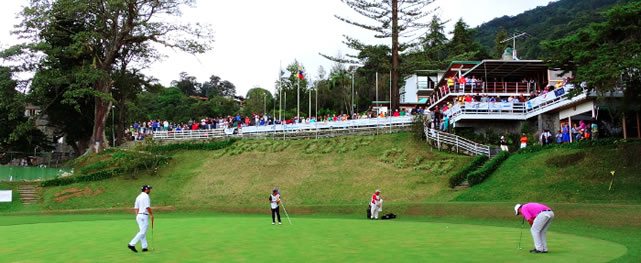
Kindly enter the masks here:
[[[268, 216], [172, 215], [157, 218], [154, 236], [149, 232], [152, 251], [135, 254], [126, 248], [137, 230], [133, 217], [113, 217], [78, 215], [71, 220], [93, 221], [5, 223], [0, 226], [0, 261], [607, 262], [627, 251], [609, 241], [550, 232], [550, 253], [530, 254], [527, 229], [523, 250], [518, 250], [520, 229], [507, 227], [313, 217], [273, 226]], [[96, 220], [101, 218], [105, 220]], [[28, 221], [47, 221], [47, 217], [24, 220]]]

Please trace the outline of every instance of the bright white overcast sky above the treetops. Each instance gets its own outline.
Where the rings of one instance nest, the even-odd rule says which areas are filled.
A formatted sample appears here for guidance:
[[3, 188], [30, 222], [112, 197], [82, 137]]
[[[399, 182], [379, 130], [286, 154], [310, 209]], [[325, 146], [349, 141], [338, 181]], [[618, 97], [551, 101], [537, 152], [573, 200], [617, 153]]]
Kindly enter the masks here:
[[[476, 27], [495, 17], [514, 16], [549, 2], [552, 0], [436, 0], [429, 7], [440, 8], [437, 14], [450, 21], [446, 25], [449, 32], [460, 17]], [[0, 48], [18, 43], [10, 31], [19, 21], [16, 14], [27, 3], [2, 1]], [[335, 14], [367, 21], [340, 0], [198, 0], [195, 8], [184, 11], [183, 19], [210, 24], [215, 34], [214, 49], [201, 55], [163, 50], [167, 57], [145, 73], [164, 85], [185, 71], [200, 82], [212, 74], [229, 80], [236, 85], [238, 95], [245, 96], [256, 86], [273, 91], [279, 65], [285, 67], [294, 59], [303, 64], [308, 76], [315, 77], [320, 65], [329, 72], [332, 62], [318, 53], [350, 53], [342, 43], [344, 34], [369, 43], [383, 41], [374, 39], [372, 32], [339, 21]]]

